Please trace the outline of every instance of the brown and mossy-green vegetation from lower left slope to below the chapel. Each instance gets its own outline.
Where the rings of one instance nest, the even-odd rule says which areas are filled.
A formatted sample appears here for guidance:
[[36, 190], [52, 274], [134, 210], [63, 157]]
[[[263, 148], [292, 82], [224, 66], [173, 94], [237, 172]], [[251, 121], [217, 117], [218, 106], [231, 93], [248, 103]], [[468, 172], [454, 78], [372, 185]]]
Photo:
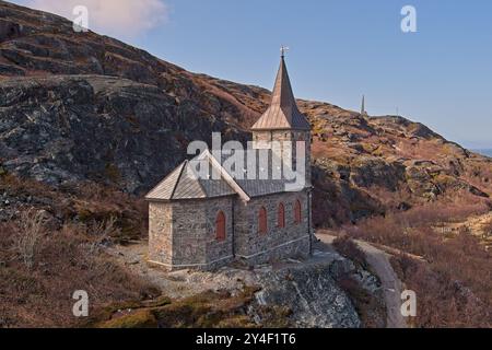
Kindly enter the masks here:
[[[256, 289], [171, 301], [105, 253], [147, 234], [142, 200], [93, 183], [55, 189], [12, 175], [0, 177], [0, 190], [16, 199], [13, 220], [0, 223], [0, 328], [256, 327], [246, 314]], [[77, 290], [89, 293], [89, 323], [72, 314]], [[270, 327], [288, 325], [288, 310], [259, 312]]]

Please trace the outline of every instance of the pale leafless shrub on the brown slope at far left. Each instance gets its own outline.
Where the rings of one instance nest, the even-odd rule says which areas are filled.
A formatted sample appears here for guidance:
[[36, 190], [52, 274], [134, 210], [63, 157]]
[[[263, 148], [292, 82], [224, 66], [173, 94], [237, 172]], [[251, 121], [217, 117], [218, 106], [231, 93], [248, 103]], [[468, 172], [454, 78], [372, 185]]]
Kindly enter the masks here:
[[24, 265], [32, 269], [43, 235], [46, 233], [43, 225], [43, 211], [30, 209], [21, 212], [19, 226], [13, 234], [13, 249]]

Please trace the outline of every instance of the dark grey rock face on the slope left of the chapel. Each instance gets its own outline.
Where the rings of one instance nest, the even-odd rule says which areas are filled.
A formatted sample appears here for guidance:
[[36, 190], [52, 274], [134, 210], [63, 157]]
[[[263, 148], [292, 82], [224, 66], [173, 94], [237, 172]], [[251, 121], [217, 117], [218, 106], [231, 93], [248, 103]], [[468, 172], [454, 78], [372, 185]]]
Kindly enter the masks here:
[[92, 179], [147, 190], [186, 158], [190, 141], [227, 128], [196, 103], [112, 77], [17, 78], [0, 91], [3, 168], [56, 186]]

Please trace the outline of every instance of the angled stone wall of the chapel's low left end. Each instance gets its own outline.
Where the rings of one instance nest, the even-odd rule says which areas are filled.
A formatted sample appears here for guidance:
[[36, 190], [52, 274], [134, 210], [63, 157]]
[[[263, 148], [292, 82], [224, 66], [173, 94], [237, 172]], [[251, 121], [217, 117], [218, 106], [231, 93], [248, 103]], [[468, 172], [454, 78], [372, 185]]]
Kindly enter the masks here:
[[[169, 269], [212, 269], [233, 260], [232, 197], [151, 202], [149, 260]], [[220, 211], [226, 218], [226, 238], [215, 236]]]

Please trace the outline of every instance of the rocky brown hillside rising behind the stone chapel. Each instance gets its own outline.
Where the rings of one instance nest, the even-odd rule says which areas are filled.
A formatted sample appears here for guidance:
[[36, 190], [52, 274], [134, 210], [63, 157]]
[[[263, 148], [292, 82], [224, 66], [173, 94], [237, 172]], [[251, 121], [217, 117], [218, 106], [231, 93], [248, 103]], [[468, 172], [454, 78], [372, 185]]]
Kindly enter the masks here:
[[[189, 141], [249, 139], [270, 92], [195, 74], [69, 21], [0, 1], [0, 173], [142, 195]], [[314, 129], [318, 225], [492, 194], [492, 160], [401, 117], [300, 101]]]

